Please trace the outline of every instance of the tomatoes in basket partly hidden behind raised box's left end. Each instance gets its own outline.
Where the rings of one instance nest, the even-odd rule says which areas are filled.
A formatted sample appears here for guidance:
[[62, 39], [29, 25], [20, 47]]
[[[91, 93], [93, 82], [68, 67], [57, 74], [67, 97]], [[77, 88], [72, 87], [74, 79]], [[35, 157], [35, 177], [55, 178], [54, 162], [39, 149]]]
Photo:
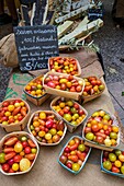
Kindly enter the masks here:
[[43, 88], [43, 75], [29, 82], [24, 89], [24, 92], [34, 97], [41, 97], [44, 95], [45, 92]]

